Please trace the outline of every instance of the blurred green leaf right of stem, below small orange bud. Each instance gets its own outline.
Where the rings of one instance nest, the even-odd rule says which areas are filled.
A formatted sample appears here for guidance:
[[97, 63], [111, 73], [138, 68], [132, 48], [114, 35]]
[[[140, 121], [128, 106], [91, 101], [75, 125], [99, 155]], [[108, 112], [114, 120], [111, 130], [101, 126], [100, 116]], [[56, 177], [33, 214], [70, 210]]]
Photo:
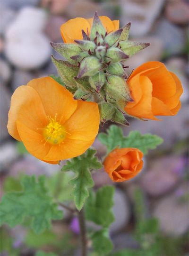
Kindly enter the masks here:
[[103, 227], [109, 227], [114, 221], [113, 194], [113, 186], [103, 186], [96, 193], [90, 192], [85, 205], [86, 219]]

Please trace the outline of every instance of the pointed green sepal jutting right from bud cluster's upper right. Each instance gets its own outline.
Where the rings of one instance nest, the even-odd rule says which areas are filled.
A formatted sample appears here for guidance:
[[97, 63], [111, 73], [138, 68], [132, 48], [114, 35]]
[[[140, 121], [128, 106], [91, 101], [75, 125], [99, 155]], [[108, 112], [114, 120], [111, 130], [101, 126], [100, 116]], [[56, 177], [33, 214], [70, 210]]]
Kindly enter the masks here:
[[149, 43], [138, 43], [138, 42], [131, 42], [131, 41], [120, 42], [121, 50], [128, 56], [132, 56], [136, 54], [137, 52], [145, 49], [149, 45], [150, 45]]

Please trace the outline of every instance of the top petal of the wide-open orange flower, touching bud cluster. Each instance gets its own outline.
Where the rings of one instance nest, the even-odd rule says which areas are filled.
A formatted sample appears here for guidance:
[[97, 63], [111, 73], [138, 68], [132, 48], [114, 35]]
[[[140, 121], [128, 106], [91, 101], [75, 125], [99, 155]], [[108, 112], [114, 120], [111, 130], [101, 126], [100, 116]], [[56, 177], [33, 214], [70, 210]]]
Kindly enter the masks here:
[[73, 95], [51, 77], [33, 79], [28, 85], [34, 88], [43, 103], [46, 115], [64, 123], [77, 108]]

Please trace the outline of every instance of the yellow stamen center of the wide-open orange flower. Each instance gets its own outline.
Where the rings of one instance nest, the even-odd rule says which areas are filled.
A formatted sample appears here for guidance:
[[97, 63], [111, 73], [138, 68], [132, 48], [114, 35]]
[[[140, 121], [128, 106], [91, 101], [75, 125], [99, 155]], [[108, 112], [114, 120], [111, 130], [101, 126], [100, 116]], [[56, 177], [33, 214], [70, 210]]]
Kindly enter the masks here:
[[49, 124], [44, 128], [43, 136], [50, 144], [60, 144], [66, 137], [66, 131], [56, 119], [50, 118]]

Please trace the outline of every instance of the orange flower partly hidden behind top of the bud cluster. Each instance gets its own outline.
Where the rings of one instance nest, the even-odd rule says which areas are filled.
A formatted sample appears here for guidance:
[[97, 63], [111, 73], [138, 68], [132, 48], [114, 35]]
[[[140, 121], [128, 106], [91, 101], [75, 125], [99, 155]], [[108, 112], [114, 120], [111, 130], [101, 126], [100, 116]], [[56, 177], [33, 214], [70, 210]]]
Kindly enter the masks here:
[[[111, 20], [106, 16], [99, 17], [107, 33], [116, 31], [120, 27], [119, 20]], [[72, 18], [63, 23], [60, 27], [64, 43], [75, 43], [74, 40], [83, 40], [82, 29], [86, 35], [90, 35], [93, 18]]]

